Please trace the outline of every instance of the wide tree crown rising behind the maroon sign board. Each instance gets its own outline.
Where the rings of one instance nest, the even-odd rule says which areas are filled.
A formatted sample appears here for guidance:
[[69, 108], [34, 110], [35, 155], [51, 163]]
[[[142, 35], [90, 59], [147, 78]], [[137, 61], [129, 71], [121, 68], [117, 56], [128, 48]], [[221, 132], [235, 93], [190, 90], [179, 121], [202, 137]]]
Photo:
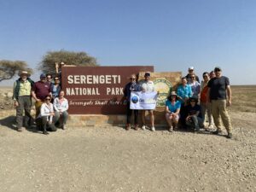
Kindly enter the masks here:
[[55, 73], [55, 63], [64, 62], [73, 66], [98, 66], [96, 58], [85, 52], [73, 52], [61, 49], [60, 51], [49, 51], [43, 56], [43, 61], [39, 63], [38, 69], [44, 73]]

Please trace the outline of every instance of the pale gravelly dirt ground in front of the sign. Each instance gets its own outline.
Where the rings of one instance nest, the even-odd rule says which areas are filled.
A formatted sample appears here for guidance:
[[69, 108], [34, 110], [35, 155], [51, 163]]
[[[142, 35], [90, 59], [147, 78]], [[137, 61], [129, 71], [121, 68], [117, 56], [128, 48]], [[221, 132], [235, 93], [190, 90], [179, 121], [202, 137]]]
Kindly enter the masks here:
[[256, 113], [230, 112], [233, 139], [79, 125], [44, 136], [15, 131], [7, 103], [0, 101], [1, 192], [256, 191]]

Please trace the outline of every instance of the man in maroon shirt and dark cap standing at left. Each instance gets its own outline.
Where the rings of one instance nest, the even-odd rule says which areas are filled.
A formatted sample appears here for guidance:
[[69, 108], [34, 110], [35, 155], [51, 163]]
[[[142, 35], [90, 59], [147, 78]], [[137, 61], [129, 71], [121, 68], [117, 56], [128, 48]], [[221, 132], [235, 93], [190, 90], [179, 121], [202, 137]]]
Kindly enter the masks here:
[[41, 105], [44, 102], [46, 96], [51, 95], [49, 83], [46, 82], [46, 75], [42, 73], [40, 75], [40, 80], [36, 82], [32, 87], [32, 97], [36, 101], [36, 118], [40, 113]]

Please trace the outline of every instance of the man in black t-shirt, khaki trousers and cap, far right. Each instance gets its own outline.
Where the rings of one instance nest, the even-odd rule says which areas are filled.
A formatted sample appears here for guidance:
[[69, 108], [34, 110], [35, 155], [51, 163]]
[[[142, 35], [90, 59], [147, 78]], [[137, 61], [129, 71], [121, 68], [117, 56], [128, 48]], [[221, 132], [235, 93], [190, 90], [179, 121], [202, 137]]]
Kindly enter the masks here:
[[[226, 106], [231, 105], [231, 89], [230, 79], [222, 76], [222, 70], [220, 67], [214, 68], [215, 78], [212, 78], [207, 86], [209, 100], [212, 105], [212, 117], [214, 124], [217, 126], [217, 131], [213, 134], [221, 133], [220, 117], [223, 121], [225, 129], [228, 131], [228, 138], [232, 138], [232, 126], [230, 122], [230, 116], [226, 109]], [[228, 96], [228, 98], [227, 98]]]

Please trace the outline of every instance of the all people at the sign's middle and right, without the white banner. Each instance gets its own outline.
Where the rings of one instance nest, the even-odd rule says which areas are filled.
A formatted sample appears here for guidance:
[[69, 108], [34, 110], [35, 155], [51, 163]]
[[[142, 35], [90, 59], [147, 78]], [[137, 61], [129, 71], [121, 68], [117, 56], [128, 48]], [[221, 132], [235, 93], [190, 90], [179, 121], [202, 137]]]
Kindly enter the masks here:
[[[212, 129], [217, 127], [213, 134], [222, 132], [222, 123], [228, 132], [227, 137], [232, 138], [232, 126], [227, 106], [231, 105], [230, 80], [222, 75], [220, 67], [215, 67], [210, 73], [195, 74], [194, 67], [189, 67], [189, 73], [181, 79], [177, 91], [172, 91], [166, 100], [166, 121], [169, 131], [179, 128], [191, 128], [200, 131], [201, 128]], [[137, 82], [135, 74], [131, 75], [131, 82], [125, 85], [125, 97], [127, 102], [127, 125], [126, 130], [131, 129], [131, 114], [134, 114], [134, 128], [138, 130], [138, 110], [130, 108], [131, 91], [154, 91], [154, 82], [150, 80], [150, 73], [145, 73], [144, 80]], [[145, 130], [145, 112], [142, 110], [142, 129]], [[151, 131], [154, 128], [154, 111], [148, 110]], [[206, 125], [206, 115], [208, 125]]]

